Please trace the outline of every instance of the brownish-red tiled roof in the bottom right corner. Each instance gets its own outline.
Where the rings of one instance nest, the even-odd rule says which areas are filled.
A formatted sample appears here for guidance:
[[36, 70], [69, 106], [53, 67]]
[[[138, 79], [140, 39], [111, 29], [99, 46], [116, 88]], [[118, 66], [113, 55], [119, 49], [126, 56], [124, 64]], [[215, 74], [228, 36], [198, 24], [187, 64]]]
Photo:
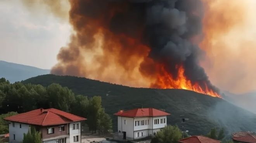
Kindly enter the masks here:
[[235, 141], [242, 141], [245, 143], [256, 143], [256, 135], [250, 132], [234, 133], [232, 139]]

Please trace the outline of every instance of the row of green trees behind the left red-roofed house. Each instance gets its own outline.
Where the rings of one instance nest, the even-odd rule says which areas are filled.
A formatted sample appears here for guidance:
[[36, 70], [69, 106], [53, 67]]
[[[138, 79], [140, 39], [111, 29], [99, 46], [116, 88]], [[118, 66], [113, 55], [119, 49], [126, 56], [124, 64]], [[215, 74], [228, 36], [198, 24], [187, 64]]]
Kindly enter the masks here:
[[[88, 98], [75, 95], [67, 87], [55, 83], [43, 87], [21, 82], [10, 84], [6, 79], [0, 79], [0, 113], [2, 116], [7, 116], [12, 111], [24, 113], [39, 108], [55, 108], [87, 118], [85, 123], [94, 133], [97, 130], [107, 132], [112, 128], [112, 120], [102, 108], [100, 96]], [[0, 124], [7, 123], [3, 121]]]

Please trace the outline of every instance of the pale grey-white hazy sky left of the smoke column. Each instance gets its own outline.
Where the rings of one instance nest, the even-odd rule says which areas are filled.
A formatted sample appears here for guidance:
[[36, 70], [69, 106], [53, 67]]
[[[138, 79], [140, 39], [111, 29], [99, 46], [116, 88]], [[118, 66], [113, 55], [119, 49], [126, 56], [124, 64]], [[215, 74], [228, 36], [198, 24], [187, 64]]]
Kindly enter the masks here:
[[68, 22], [33, 14], [20, 0], [0, 0], [0, 60], [50, 69], [69, 40]]

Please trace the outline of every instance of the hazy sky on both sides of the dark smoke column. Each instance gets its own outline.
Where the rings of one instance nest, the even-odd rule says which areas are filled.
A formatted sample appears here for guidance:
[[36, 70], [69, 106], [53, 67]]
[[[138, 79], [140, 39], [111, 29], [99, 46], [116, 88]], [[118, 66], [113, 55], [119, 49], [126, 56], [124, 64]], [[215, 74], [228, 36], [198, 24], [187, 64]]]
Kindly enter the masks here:
[[[34, 4], [30, 5], [31, 2]], [[43, 2], [0, 0], [0, 60], [42, 69], [57, 64], [57, 54], [69, 43], [72, 32], [69, 8], [65, 7], [69, 3], [67, 0]], [[67, 3], [60, 6], [58, 2]], [[206, 30], [209, 60], [202, 67], [210, 81], [221, 89], [233, 93], [254, 91], [256, 0], [208, 2], [212, 2], [211, 18], [208, 17], [209, 22], [204, 26], [209, 28]]]

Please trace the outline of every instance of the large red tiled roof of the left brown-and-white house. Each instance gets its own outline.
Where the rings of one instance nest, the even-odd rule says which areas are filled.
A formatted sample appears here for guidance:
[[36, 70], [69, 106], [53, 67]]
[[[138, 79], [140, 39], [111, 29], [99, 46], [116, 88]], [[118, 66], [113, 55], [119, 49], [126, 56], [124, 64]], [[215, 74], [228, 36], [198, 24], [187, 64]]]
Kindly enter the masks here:
[[25, 124], [34, 124], [39, 126], [51, 126], [57, 124], [67, 124], [75, 121], [83, 121], [85, 118], [58, 110], [50, 109], [36, 109], [26, 113], [17, 114], [4, 118], [7, 121], [14, 121]]

